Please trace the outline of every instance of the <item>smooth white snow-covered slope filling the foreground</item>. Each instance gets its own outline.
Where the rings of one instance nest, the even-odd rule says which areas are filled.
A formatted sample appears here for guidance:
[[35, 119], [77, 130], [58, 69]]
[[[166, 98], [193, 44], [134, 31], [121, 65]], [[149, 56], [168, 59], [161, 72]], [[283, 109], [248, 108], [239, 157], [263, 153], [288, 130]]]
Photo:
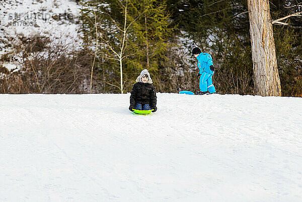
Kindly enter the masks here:
[[0, 95], [0, 201], [302, 201], [302, 98]]

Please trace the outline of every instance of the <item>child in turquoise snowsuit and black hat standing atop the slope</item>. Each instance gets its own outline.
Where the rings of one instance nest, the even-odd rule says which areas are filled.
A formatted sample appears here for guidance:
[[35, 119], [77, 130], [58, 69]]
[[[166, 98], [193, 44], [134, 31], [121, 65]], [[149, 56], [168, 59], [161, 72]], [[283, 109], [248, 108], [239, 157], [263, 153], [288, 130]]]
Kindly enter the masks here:
[[192, 56], [194, 56], [198, 62], [197, 67], [199, 68], [198, 77], [200, 76], [199, 80], [199, 88], [200, 91], [196, 94], [203, 95], [207, 92], [215, 93], [215, 87], [212, 83], [212, 76], [214, 75], [215, 67], [213, 65], [213, 60], [210, 54], [208, 53], [201, 53], [199, 48], [194, 48], [192, 50]]

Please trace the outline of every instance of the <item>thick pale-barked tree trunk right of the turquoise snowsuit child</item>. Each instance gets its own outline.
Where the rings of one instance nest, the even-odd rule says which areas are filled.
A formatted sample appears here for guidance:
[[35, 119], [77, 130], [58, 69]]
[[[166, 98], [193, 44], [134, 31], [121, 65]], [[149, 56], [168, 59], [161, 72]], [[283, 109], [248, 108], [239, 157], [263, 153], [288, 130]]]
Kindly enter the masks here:
[[248, 0], [255, 93], [281, 96], [268, 0]]

